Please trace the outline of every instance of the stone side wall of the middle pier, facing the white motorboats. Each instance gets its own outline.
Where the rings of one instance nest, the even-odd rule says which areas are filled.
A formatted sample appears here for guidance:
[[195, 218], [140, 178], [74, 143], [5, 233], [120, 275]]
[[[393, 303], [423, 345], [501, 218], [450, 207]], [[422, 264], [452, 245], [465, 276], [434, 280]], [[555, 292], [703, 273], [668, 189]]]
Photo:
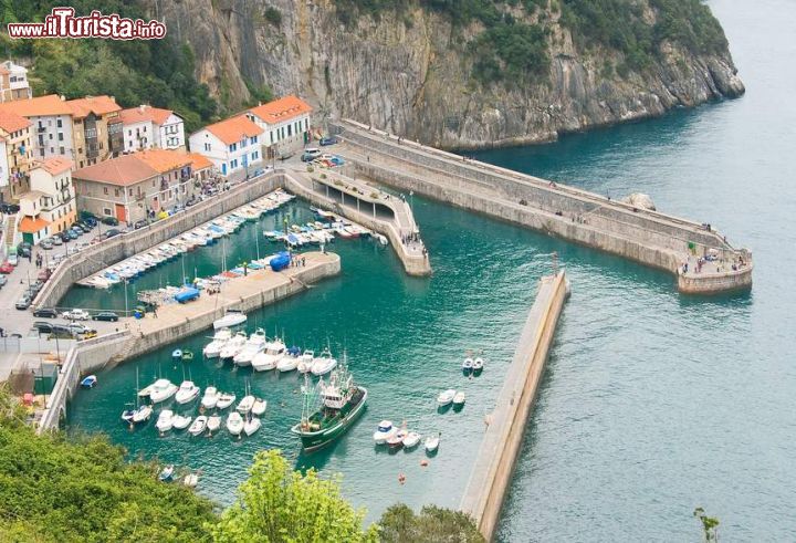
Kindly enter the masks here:
[[308, 288], [311, 283], [336, 275], [341, 272], [341, 259], [329, 253], [333, 260], [296, 271], [293, 276], [274, 286], [253, 291], [237, 299], [228, 299], [223, 304], [191, 315], [184, 322], [164, 325], [164, 327], [143, 334], [130, 328], [78, 342], [64, 361], [59, 379], [42, 415], [38, 431], [57, 429], [59, 421], [66, 415], [66, 403], [80, 385], [81, 376], [97, 372], [108, 364], [118, 364], [128, 358], [155, 351], [164, 345], [212, 327], [227, 309], [249, 313], [279, 300], [291, 296]]

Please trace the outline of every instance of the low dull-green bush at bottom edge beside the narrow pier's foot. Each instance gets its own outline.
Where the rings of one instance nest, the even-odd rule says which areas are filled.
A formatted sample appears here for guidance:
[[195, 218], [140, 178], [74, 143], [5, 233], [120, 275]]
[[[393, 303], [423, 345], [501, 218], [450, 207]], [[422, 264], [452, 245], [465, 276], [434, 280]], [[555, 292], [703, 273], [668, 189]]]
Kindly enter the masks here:
[[426, 505], [420, 514], [402, 503], [392, 505], [379, 520], [385, 543], [481, 543], [484, 541], [472, 518], [461, 511]]

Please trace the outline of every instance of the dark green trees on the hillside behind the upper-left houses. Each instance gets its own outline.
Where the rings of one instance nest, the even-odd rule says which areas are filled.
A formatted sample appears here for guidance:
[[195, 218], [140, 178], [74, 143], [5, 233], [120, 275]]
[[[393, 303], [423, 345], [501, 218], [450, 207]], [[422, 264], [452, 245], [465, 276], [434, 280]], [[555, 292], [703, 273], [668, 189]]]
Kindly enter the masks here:
[[[40, 22], [53, 7], [74, 7], [77, 14], [100, 10], [133, 19], [148, 19], [134, 2], [124, 0], [2, 0], [2, 27], [9, 22]], [[218, 104], [207, 85], [195, 76], [191, 49], [167, 34], [164, 40], [10, 40], [0, 45], [12, 58], [33, 63], [30, 80], [35, 94], [67, 98], [107, 94], [123, 107], [151, 104], [176, 111], [192, 132], [217, 115]]]

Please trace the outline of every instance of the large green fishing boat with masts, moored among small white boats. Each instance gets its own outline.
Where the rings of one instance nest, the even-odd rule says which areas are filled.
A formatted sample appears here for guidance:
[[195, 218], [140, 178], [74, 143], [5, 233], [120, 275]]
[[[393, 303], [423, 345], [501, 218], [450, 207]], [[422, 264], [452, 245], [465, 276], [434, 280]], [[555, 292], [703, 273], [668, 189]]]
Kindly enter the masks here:
[[313, 386], [310, 375], [305, 374], [302, 393], [302, 419], [291, 431], [301, 437], [306, 452], [317, 450], [345, 434], [363, 414], [367, 403], [367, 389], [354, 384], [345, 355], [332, 372], [328, 383], [322, 378]]

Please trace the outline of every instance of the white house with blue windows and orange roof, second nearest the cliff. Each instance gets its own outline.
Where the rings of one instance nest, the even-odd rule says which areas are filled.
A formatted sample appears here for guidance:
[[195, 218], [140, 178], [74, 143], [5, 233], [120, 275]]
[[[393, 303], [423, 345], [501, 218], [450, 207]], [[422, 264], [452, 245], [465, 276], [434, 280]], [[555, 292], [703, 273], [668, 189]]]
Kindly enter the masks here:
[[191, 152], [209, 158], [222, 176], [240, 171], [248, 177], [262, 163], [264, 133], [247, 115], [238, 115], [195, 132], [188, 140]]

